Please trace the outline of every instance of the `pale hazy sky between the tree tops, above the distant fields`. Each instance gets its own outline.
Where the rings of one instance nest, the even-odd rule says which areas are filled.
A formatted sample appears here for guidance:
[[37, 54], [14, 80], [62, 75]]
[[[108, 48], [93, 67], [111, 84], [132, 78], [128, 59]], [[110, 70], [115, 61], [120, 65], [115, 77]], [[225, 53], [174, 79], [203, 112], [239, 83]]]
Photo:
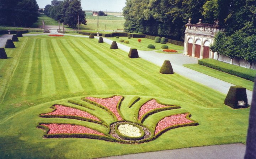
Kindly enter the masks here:
[[[46, 5], [51, 4], [52, 0], [36, 0], [39, 8], [44, 8]], [[126, 0], [81, 0], [81, 5], [83, 10], [97, 10], [104, 12], [120, 12], [125, 6]]]

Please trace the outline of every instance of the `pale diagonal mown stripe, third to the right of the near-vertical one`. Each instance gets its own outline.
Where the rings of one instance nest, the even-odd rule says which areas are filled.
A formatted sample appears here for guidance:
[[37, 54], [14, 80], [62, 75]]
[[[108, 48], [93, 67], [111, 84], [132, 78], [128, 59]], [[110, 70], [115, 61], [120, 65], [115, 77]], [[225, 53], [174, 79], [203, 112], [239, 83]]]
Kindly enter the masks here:
[[[121, 75], [119, 75], [116, 70], [111, 69], [111, 64], [107, 64], [107, 62], [104, 61], [104, 59], [100, 59], [98, 58], [95, 54], [96, 52], [92, 49], [89, 48], [89, 46], [83, 44], [80, 42], [80, 40], [76, 40], [76, 42], [79, 42], [77, 44], [78, 48], [84, 48], [86, 50], [90, 50], [87, 51], [86, 54], [92, 59], [94, 60], [94, 62], [97, 63], [98, 66], [100, 66], [108, 75], [111, 75], [112, 79], [114, 81], [116, 81], [116, 83], [118, 83], [119, 86], [121, 86], [123, 89], [126, 90], [130, 90], [130, 89], [134, 89], [134, 87], [132, 85], [130, 85], [126, 79], [124, 79]], [[90, 43], [89, 43], [90, 44]]]

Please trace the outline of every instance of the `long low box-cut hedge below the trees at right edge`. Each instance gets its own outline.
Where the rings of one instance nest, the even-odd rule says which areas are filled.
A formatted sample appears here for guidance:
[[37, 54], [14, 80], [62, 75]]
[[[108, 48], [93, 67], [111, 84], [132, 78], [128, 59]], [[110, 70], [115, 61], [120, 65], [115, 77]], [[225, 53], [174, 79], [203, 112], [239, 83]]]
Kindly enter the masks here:
[[213, 68], [222, 72], [229, 73], [230, 75], [235, 75], [241, 78], [254, 81], [256, 76], [256, 70], [251, 70], [249, 68], [243, 68], [240, 66], [231, 65], [225, 62], [217, 61], [214, 59], [202, 59], [198, 60], [199, 65]]

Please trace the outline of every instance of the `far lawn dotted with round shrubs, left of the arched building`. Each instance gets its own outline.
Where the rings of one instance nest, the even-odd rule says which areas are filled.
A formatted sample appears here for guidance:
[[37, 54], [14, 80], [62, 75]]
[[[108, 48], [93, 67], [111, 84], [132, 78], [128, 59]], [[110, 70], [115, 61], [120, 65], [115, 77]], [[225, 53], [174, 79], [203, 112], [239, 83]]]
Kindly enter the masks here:
[[[160, 44], [160, 43], [155, 43], [154, 40], [147, 39], [147, 38], [130, 38], [130, 39], [128, 39], [128, 37], [119, 37], [117, 39], [116, 37], [112, 37], [112, 38], [108, 38], [108, 39], [111, 39], [118, 43], [120, 43], [119, 40], [121, 40], [121, 39], [128, 40], [129, 41], [128, 44], [126, 44], [126, 43], [121, 43], [121, 44], [127, 45], [131, 48], [135, 48], [138, 50], [144, 50], [144, 51], [160, 50], [161, 46], [164, 45], [164, 44]], [[142, 41], [139, 43], [138, 39], [142, 39]], [[155, 49], [148, 49], [149, 44], [155, 45]], [[173, 49], [173, 50], [183, 50], [183, 48], [184, 48], [183, 46], [174, 45], [171, 43], [166, 43], [165, 45], [168, 45], [169, 49]]]

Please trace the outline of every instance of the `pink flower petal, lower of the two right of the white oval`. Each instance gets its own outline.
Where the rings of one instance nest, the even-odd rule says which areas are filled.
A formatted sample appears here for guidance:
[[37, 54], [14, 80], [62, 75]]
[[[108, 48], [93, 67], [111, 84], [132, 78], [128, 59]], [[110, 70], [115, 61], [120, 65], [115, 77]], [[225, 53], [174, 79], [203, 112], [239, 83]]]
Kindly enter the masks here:
[[181, 124], [188, 124], [193, 122], [192, 120], [188, 120], [186, 118], [187, 114], [177, 114], [177, 115], [172, 115], [165, 117], [164, 119], [160, 120], [158, 122], [158, 125], [156, 126], [155, 129], [155, 135], [161, 131], [164, 130], [167, 127], [173, 126], [173, 125], [181, 125]]

